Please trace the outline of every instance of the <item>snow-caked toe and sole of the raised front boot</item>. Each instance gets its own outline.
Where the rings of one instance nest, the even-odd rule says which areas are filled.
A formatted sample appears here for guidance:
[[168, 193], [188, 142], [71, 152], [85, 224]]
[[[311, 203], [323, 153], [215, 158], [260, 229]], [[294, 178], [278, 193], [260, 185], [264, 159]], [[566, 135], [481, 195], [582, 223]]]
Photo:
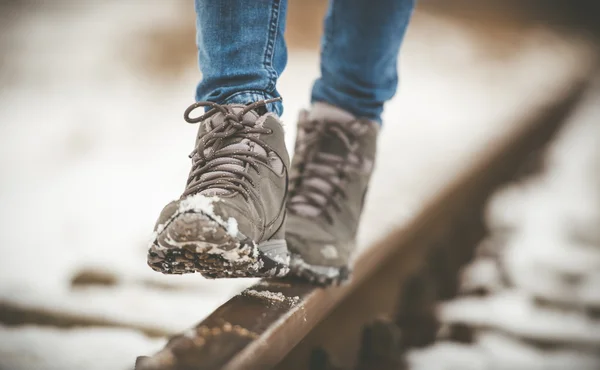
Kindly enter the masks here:
[[152, 242], [148, 265], [163, 274], [199, 272], [209, 279], [281, 277], [289, 272], [285, 240], [256, 243], [199, 212], [176, 215]]

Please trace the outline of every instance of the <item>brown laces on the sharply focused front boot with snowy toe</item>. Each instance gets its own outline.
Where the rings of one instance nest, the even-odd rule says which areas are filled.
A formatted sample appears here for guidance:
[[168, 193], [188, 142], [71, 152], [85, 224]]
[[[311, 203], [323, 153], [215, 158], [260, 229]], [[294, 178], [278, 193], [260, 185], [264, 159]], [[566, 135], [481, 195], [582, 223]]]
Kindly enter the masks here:
[[[212, 127], [198, 140], [196, 147], [190, 153], [192, 169], [182, 197], [208, 189], [238, 192], [246, 200], [250, 196], [258, 197], [252, 190], [254, 183], [252, 177], [245, 170], [246, 165], [254, 168], [257, 172], [261, 163], [270, 169], [269, 158], [267, 155], [252, 151], [249, 145], [236, 144], [247, 140], [247, 142], [253, 142], [262, 147], [265, 153], [272, 151], [264, 141], [258, 138], [260, 134], [272, 134], [272, 130], [256, 126], [253, 122], [244, 122], [243, 117], [253, 109], [278, 100], [280, 98], [257, 101], [247, 105], [238, 113], [234, 113], [225, 105], [208, 101], [196, 102], [185, 110], [184, 119], [192, 124], [203, 122], [217, 113], [222, 113], [224, 117], [221, 124]], [[211, 107], [211, 109], [199, 117], [190, 117], [190, 114], [200, 107]]]

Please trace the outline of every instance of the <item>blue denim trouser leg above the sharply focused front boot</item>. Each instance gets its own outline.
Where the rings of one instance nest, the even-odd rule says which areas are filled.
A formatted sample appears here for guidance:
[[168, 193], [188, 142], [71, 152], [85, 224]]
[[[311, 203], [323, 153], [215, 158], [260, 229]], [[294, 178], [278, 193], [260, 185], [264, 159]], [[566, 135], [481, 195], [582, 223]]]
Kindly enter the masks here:
[[[195, 7], [202, 72], [196, 100], [247, 104], [279, 97], [287, 0], [195, 0]], [[269, 109], [281, 116], [283, 106]]]

